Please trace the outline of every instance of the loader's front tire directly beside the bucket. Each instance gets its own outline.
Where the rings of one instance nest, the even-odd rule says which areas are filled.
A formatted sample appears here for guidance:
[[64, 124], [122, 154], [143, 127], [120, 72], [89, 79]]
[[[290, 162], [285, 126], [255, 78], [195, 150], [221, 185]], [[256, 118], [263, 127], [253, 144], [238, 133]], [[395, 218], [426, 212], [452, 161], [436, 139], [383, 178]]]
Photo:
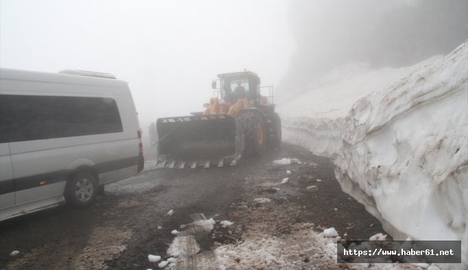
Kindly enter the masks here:
[[262, 154], [267, 143], [262, 116], [258, 112], [244, 112], [241, 126], [245, 138], [244, 156]]

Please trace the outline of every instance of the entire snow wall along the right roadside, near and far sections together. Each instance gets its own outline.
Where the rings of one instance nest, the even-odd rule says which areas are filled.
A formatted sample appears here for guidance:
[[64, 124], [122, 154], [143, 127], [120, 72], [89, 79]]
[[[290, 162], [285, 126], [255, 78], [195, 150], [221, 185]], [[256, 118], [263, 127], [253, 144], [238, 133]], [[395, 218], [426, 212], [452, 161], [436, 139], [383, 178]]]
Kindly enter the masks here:
[[[331, 77], [339, 82], [328, 93], [336, 100], [326, 101], [320, 95], [314, 99], [314, 93], [326, 89], [319, 82], [278, 106], [284, 140], [334, 158], [343, 191], [364, 204], [386, 232], [396, 239], [461, 240], [465, 266], [467, 56], [465, 42], [439, 60], [431, 58], [404, 69], [361, 69], [351, 75], [334, 71]], [[396, 82], [373, 91], [372, 87], [386, 84], [384, 77]], [[362, 97], [365, 90], [357, 93], [354, 88], [367, 85], [365, 79], [370, 94]], [[349, 91], [354, 98], [338, 97]], [[330, 110], [298, 112], [301, 104], [320, 102]], [[354, 103], [351, 110], [349, 102]]]

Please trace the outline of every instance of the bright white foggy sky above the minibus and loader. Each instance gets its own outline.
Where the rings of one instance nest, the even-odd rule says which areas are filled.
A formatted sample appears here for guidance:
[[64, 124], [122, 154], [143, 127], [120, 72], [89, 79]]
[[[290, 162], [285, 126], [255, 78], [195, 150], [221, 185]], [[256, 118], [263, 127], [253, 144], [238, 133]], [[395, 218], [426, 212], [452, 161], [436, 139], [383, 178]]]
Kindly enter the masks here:
[[204, 110], [219, 73], [278, 84], [295, 44], [287, 1], [1, 0], [0, 66], [113, 73], [129, 82], [143, 130]]

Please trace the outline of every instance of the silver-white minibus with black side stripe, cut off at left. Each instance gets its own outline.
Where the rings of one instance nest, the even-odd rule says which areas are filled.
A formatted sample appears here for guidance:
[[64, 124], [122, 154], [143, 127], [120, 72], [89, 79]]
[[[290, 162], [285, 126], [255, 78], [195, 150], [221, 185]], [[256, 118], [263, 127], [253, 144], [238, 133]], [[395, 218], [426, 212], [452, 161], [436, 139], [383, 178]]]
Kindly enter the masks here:
[[127, 82], [91, 71], [0, 69], [0, 220], [62, 201], [89, 206], [105, 184], [142, 170]]

